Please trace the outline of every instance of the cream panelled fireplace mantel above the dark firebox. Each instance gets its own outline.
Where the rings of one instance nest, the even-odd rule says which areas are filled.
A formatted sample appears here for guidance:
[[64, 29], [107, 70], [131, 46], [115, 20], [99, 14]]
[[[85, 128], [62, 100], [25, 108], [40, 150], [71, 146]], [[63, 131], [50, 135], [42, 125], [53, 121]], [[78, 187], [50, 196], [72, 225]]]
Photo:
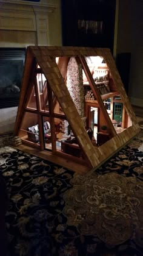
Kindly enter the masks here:
[[58, 2], [0, 0], [0, 46], [52, 45]]

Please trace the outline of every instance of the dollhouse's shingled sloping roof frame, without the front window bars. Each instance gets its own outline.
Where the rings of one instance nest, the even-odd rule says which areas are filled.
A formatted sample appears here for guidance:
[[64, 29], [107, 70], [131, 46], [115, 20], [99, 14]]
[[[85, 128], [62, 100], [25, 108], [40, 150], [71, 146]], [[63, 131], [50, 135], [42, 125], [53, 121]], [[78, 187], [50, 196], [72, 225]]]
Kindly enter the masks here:
[[[122, 102], [124, 103], [125, 110], [132, 122], [132, 126], [125, 129], [122, 133], [117, 134], [113, 127], [113, 124], [111, 123], [111, 120], [102, 102], [101, 95], [96, 89], [96, 85], [93, 77], [91, 76], [90, 69], [88, 68], [87, 63], [84, 59], [84, 57], [86, 56], [102, 56], [107, 63], [113, 82], [116, 84], [116, 88], [118, 89], [118, 92], [121, 95]], [[60, 64], [58, 67], [55, 62], [56, 57], [75, 57], [78, 58], [78, 61], [82, 63], [90, 87], [95, 93], [99, 107], [104, 114], [111, 133], [111, 139], [99, 148], [93, 146], [87, 135], [87, 132], [85, 131], [85, 128], [81, 122], [81, 118], [79, 117], [78, 111], [76, 110], [75, 104], [73, 103], [70, 93], [68, 92], [68, 89], [64, 82], [63, 77], [66, 76], [66, 66], [62, 68], [62, 64]], [[27, 48], [27, 55], [25, 59], [24, 76], [22, 79], [21, 95], [19, 99], [18, 114], [15, 124], [15, 135], [18, 135], [19, 128], [21, 126], [22, 116], [25, 110], [25, 102], [27, 101], [27, 97], [31, 89], [30, 84], [32, 84], [32, 81], [30, 82], [30, 80], [32, 79], [33, 67], [36, 65], [36, 63], [38, 63], [41, 67], [42, 72], [44, 73], [51, 90], [55, 94], [59, 104], [62, 107], [63, 112], [65, 113], [71, 129], [73, 130], [76, 138], [78, 139], [78, 143], [81, 146], [82, 151], [84, 151], [84, 154], [86, 155], [88, 167], [86, 168], [85, 172], [90, 171], [90, 169], [96, 169], [111, 155], [115, 154], [116, 151], [121, 149], [122, 146], [124, 146], [132, 137], [134, 137], [139, 132], [140, 128], [136, 121], [135, 113], [133, 112], [133, 109], [130, 105], [127, 94], [125, 93], [121, 77], [119, 76], [118, 70], [116, 69], [115, 62], [109, 49], [59, 46], [29, 46]], [[43, 151], [43, 148], [41, 148], [41, 151]], [[53, 151], [52, 154], [56, 154], [56, 152]], [[71, 167], [71, 162], [69, 162], [69, 166], [67, 164], [65, 166], [69, 169], [75, 170], [74, 167]], [[83, 166], [84, 164], [81, 164], [79, 166], [79, 169], [82, 169]]]

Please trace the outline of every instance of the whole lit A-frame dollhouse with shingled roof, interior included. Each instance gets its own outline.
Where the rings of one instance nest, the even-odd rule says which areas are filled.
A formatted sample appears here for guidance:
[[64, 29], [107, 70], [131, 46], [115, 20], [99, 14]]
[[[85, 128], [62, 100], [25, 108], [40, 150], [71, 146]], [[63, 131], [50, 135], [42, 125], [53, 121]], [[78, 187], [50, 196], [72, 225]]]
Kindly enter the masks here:
[[109, 49], [28, 46], [15, 125], [20, 148], [87, 172], [138, 132]]

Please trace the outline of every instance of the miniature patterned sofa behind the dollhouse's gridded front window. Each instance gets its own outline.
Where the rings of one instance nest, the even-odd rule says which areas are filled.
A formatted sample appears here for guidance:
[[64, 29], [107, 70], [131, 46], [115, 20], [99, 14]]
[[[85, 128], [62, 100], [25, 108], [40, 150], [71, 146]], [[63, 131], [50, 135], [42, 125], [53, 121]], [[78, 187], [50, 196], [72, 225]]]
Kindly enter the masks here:
[[[45, 121], [43, 124], [44, 127], [44, 135], [47, 133], [50, 133], [50, 123], [48, 121]], [[39, 142], [39, 127], [38, 124], [35, 126], [31, 126], [27, 128], [27, 135], [28, 140], [32, 141], [33, 143]]]

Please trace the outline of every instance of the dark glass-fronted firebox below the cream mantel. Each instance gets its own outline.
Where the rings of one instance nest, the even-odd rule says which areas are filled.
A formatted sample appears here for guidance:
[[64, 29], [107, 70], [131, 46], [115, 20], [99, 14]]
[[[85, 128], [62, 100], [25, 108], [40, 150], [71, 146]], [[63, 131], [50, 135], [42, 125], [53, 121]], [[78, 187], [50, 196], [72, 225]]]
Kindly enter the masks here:
[[25, 48], [0, 48], [0, 108], [18, 106], [24, 60]]

